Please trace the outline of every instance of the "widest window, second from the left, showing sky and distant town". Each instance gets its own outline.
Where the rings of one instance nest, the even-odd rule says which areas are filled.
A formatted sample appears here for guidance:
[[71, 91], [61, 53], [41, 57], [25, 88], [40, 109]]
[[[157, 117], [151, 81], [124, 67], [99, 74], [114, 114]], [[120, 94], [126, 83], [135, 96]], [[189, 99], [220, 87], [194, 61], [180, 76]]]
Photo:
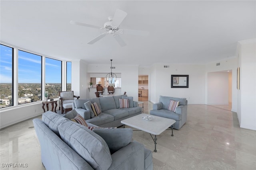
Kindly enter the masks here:
[[42, 56], [18, 50], [18, 104], [42, 100]]

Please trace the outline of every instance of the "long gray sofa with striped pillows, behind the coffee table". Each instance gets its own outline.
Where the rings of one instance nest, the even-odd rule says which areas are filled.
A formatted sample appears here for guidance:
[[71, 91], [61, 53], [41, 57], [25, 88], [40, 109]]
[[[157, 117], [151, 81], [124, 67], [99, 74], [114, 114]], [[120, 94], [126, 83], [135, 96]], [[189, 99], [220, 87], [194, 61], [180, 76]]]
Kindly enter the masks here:
[[[120, 109], [119, 99], [121, 98], [129, 99], [129, 108]], [[85, 103], [88, 101], [90, 101], [88, 106], [96, 102], [102, 113], [95, 116], [91, 109], [86, 108]], [[74, 100], [73, 109], [86, 120], [86, 123], [99, 127], [119, 127], [123, 125], [121, 123], [123, 119], [142, 113], [142, 107], [138, 107], [138, 102], [133, 101], [133, 97], [127, 97], [127, 95]]]

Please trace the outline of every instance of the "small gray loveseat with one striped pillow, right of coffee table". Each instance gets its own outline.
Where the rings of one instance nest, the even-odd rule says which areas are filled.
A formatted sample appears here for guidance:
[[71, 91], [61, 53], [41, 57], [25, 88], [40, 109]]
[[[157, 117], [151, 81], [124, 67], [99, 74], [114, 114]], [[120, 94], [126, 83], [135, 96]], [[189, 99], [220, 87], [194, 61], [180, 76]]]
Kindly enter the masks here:
[[[179, 106], [176, 107], [175, 112], [168, 110], [168, 105], [171, 99], [180, 102]], [[160, 96], [159, 102], [153, 104], [153, 110], [150, 110], [150, 115], [174, 119], [176, 120], [176, 123], [174, 123], [173, 128], [180, 129], [187, 121], [187, 109], [188, 100], [186, 100], [186, 98]]]

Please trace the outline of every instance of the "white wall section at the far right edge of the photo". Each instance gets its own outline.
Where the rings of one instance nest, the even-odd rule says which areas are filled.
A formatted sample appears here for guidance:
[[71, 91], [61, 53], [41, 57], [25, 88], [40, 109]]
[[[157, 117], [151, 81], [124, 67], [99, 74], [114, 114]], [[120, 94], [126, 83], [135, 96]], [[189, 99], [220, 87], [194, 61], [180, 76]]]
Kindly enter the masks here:
[[256, 130], [256, 39], [239, 44], [238, 120], [240, 127]]

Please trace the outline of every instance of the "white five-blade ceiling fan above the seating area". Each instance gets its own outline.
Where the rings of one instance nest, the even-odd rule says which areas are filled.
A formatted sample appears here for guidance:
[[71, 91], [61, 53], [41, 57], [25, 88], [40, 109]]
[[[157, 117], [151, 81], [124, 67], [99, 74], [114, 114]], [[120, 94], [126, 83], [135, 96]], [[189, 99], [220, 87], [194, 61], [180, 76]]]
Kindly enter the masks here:
[[117, 9], [114, 17], [108, 17], [108, 22], [104, 23], [104, 27], [96, 26], [96, 25], [90, 25], [87, 23], [81, 23], [81, 22], [76, 22], [76, 21], [70, 21], [71, 24], [75, 25], [82, 25], [86, 27], [92, 27], [92, 28], [97, 28], [97, 29], [105, 29], [106, 32], [100, 34], [98, 37], [95, 37], [91, 41], [89, 41], [87, 44], [94, 44], [103, 37], [105, 37], [107, 34], [113, 35], [113, 37], [116, 39], [116, 41], [119, 43], [121, 47], [125, 46], [126, 43], [124, 40], [120, 37], [119, 33], [124, 33], [124, 34], [130, 34], [130, 35], [142, 35], [142, 36], [147, 36], [149, 34], [148, 31], [140, 31], [140, 30], [133, 30], [133, 29], [119, 29], [119, 25], [122, 23], [124, 18], [127, 16], [127, 13]]

